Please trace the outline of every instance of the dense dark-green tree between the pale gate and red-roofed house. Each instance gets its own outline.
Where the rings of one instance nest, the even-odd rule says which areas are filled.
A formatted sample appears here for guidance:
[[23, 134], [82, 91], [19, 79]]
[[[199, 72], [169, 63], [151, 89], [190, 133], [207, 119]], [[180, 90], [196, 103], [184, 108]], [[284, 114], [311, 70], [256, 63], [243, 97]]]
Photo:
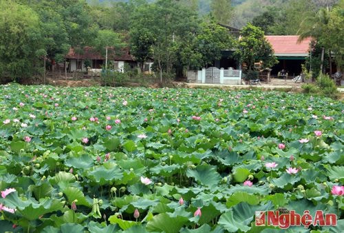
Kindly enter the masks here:
[[248, 70], [253, 70], [257, 61], [263, 61], [263, 68], [270, 68], [277, 63], [274, 51], [264, 37], [264, 32], [250, 23], [241, 30], [241, 38], [235, 54], [241, 62], [246, 63]]

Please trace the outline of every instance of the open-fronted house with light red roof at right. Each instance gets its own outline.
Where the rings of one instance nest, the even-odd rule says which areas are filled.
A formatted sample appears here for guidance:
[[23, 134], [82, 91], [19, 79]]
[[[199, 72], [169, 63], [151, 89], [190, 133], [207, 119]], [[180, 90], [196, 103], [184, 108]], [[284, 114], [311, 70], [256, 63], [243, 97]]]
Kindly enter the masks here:
[[301, 73], [301, 64], [305, 62], [310, 51], [311, 38], [307, 38], [300, 43], [298, 35], [292, 36], [266, 36], [272, 45], [275, 56], [279, 63], [272, 67], [271, 74], [277, 75], [281, 70], [286, 70], [290, 78]]

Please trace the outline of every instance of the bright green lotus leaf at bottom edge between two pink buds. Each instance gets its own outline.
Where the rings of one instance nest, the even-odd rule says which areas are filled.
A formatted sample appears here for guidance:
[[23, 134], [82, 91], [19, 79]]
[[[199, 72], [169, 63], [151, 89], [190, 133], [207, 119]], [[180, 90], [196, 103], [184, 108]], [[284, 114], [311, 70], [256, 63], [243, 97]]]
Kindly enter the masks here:
[[153, 216], [147, 223], [147, 231], [149, 232], [171, 232], [177, 233], [180, 228], [189, 221], [184, 216], [177, 216], [175, 218], [170, 217], [168, 214], [162, 213]]

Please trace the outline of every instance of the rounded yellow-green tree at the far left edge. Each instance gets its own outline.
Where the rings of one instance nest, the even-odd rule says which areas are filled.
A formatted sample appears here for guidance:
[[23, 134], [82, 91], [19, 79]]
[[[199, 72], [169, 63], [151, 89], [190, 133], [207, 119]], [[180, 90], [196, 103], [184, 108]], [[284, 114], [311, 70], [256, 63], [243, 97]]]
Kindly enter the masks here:
[[45, 55], [39, 16], [28, 6], [0, 1], [0, 75], [14, 80], [39, 72]]

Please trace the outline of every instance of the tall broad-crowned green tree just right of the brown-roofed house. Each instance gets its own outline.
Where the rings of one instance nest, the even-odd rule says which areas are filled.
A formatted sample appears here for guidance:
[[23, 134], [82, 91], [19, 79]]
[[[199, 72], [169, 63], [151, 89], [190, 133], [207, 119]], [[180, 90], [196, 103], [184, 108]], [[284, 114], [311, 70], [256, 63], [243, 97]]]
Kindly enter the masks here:
[[[197, 15], [175, 0], [159, 0], [142, 4], [136, 8], [131, 18], [131, 47], [140, 61], [151, 54], [155, 70], [162, 74], [172, 74], [177, 60], [178, 41], [186, 41], [186, 36], [195, 32]], [[143, 32], [143, 40], [140, 39]]]

